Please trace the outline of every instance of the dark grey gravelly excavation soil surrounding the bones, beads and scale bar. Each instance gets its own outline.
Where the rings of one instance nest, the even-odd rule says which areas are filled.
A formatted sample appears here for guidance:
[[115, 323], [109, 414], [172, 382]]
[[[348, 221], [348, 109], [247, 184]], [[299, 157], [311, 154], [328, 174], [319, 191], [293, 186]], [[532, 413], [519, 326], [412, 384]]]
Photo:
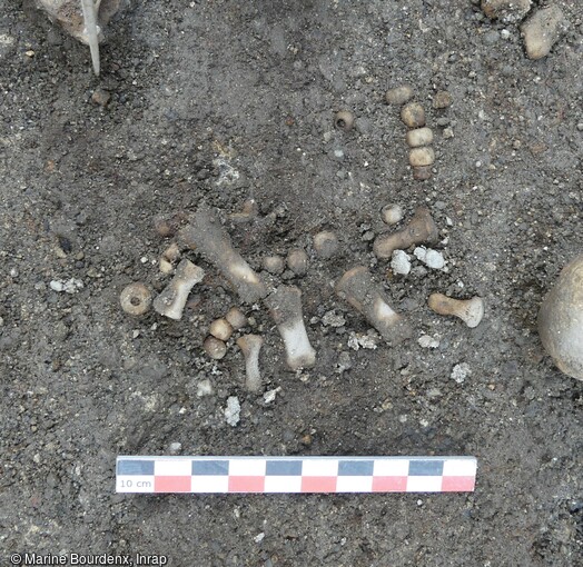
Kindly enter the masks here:
[[[570, 29], [534, 62], [516, 26], [465, 0], [152, 0], [111, 21], [96, 78], [86, 46], [0, 1], [1, 565], [16, 553], [161, 554], [177, 567], [582, 565], [583, 384], [536, 332], [542, 298], [583, 247], [581, 7], [555, 3]], [[428, 181], [413, 180], [399, 108], [384, 102], [404, 82], [435, 133]], [[439, 90], [451, 107], [433, 108]], [[334, 128], [342, 109], [350, 131]], [[257, 216], [229, 220], [248, 199]], [[236, 337], [223, 360], [202, 350], [209, 324], [240, 301], [196, 250], [185, 256], [207, 277], [180, 321], [120, 309], [129, 282], [169, 281], [157, 261], [172, 238], [155, 217], [202, 202], [256, 269], [292, 248], [310, 256], [305, 276], [271, 284], [302, 289], [314, 368], [289, 372], [265, 307], [243, 306], [245, 330], [265, 337], [270, 402], [246, 391]], [[395, 276], [374, 258], [389, 202], [403, 223], [429, 208], [446, 270], [413, 258]], [[335, 258], [312, 248], [323, 229], [339, 236]], [[402, 345], [335, 296], [358, 265], [415, 329]], [[483, 322], [433, 314], [434, 291], [482, 296]], [[438, 347], [422, 348], [423, 334]], [[477, 484], [116, 494], [118, 455], [177, 442], [184, 455], [474, 455]]]

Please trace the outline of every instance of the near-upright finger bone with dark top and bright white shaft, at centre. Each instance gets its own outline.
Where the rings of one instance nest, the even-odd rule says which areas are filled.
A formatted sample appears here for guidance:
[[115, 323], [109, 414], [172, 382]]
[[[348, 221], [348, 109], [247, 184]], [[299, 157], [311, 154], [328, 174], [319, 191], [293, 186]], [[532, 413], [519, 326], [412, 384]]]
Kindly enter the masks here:
[[309, 344], [302, 314], [302, 291], [295, 286], [279, 286], [265, 304], [284, 339], [287, 366], [292, 370], [310, 368], [316, 364], [316, 351]]

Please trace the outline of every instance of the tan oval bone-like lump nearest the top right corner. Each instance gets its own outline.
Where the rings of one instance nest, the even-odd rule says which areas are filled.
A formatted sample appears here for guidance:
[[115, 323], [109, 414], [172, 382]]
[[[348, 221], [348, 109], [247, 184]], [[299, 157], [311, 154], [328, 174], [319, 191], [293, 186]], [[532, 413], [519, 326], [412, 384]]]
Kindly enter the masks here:
[[537, 10], [521, 27], [528, 59], [546, 57], [565, 30], [566, 20], [559, 6]]

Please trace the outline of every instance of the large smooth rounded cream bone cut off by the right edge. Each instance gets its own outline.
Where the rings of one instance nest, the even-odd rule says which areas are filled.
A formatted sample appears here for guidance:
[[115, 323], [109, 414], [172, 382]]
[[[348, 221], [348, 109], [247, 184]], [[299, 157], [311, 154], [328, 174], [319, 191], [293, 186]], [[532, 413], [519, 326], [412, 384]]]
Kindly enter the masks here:
[[583, 380], [583, 255], [563, 268], [544, 298], [538, 335], [560, 370]]

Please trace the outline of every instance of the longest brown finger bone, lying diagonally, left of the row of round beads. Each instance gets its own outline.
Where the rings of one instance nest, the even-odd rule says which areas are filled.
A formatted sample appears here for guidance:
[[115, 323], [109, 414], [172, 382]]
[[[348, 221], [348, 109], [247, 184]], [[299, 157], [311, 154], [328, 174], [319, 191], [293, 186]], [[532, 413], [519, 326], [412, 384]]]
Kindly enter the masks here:
[[214, 263], [246, 304], [254, 304], [267, 295], [267, 287], [259, 275], [233, 247], [216, 210], [200, 207], [192, 222], [180, 230], [178, 239]]

